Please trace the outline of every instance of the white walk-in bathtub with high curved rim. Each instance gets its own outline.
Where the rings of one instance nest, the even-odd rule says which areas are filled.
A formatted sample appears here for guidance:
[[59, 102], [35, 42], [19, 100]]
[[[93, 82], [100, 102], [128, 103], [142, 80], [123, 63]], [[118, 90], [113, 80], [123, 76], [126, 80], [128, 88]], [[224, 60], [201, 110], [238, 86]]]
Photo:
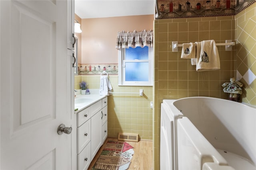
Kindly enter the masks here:
[[163, 100], [161, 170], [256, 170], [256, 108], [209, 97]]

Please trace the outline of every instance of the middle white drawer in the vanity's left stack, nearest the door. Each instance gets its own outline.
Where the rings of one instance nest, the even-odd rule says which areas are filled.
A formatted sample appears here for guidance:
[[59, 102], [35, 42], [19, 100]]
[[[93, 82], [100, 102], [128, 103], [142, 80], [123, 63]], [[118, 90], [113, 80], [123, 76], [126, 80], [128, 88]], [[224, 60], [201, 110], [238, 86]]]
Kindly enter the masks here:
[[77, 152], [80, 153], [91, 140], [91, 120], [77, 128]]

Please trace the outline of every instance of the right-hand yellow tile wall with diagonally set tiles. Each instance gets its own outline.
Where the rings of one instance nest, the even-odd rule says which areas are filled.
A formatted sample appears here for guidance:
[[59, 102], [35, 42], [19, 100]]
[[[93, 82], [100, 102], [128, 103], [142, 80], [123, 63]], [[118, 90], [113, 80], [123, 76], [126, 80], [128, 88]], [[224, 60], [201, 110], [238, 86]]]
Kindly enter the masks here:
[[[256, 3], [236, 15], [237, 70], [243, 76], [248, 69], [256, 75]], [[242, 102], [256, 105], [256, 79], [247, 84], [244, 78]]]

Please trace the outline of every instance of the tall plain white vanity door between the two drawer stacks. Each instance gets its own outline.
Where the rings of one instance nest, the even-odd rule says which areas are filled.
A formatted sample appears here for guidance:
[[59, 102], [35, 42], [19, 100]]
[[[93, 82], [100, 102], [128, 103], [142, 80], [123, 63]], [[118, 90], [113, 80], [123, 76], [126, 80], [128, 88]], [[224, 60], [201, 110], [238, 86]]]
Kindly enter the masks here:
[[91, 158], [93, 159], [102, 145], [101, 111], [91, 117]]

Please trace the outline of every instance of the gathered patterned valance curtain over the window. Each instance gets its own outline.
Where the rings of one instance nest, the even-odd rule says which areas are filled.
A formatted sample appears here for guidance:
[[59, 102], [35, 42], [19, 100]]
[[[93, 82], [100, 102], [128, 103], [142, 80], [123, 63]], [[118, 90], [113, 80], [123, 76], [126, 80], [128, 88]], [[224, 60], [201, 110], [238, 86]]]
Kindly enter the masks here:
[[125, 31], [118, 32], [116, 37], [116, 49], [136, 48], [136, 47], [153, 47], [153, 30], [136, 32]]

